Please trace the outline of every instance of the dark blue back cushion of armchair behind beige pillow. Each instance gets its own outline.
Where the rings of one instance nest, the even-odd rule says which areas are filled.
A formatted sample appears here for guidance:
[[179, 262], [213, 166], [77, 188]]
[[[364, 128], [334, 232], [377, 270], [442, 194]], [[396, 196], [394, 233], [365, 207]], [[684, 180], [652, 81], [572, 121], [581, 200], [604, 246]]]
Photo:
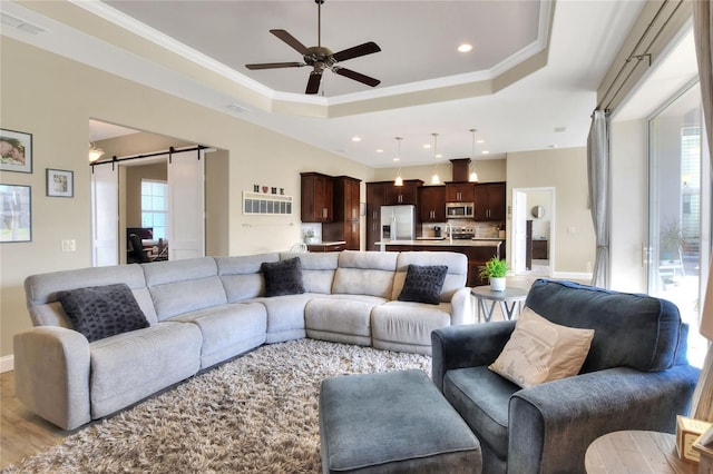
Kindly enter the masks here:
[[685, 345], [678, 308], [665, 299], [538, 279], [525, 304], [553, 323], [595, 329], [583, 373], [621, 366], [664, 371]]

